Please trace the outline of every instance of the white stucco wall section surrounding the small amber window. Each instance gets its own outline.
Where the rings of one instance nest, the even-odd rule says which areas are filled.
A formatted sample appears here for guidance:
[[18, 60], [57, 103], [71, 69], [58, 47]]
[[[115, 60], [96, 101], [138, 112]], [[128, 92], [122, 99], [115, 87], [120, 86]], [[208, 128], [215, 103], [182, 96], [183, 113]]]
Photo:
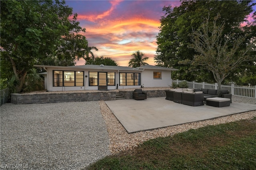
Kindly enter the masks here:
[[[161, 79], [154, 79], [154, 71], [161, 72]], [[171, 71], [145, 69], [142, 71], [142, 86], [144, 87], [170, 87]]]

